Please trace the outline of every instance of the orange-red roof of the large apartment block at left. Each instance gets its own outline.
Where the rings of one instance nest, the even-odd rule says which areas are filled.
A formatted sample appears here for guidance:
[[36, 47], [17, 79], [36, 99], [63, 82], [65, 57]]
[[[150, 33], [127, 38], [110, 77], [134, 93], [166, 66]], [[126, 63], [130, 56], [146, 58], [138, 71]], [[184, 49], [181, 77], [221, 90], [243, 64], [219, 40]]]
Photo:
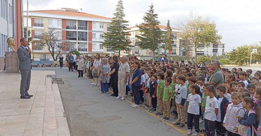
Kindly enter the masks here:
[[29, 12], [37, 12], [37, 13], [47, 13], [47, 14], [56, 14], [56, 15], [67, 15], [67, 16], [78, 16], [78, 17], [90, 17], [90, 18], [100, 18], [100, 19], [109, 19], [109, 17], [102, 17], [98, 15], [93, 15], [89, 13], [82, 13], [82, 12], [70, 12], [70, 11], [62, 11], [62, 10], [34, 10]]

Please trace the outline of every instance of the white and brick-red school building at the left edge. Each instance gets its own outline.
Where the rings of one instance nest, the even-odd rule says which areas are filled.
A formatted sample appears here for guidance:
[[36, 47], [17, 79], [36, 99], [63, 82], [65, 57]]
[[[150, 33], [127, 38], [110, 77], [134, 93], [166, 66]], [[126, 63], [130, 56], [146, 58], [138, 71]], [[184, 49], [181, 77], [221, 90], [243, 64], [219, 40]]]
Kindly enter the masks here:
[[4, 67], [4, 55], [8, 48], [7, 39], [14, 38], [17, 50], [22, 37], [21, 0], [0, 0], [0, 68]]

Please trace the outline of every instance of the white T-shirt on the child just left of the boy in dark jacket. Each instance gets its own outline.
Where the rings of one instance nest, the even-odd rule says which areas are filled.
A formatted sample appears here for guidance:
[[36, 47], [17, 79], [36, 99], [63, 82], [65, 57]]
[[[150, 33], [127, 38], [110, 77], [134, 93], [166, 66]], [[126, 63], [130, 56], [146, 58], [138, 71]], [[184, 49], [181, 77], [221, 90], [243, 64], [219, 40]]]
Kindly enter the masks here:
[[205, 107], [205, 113], [204, 118], [208, 119], [210, 121], [216, 120], [216, 112], [215, 108], [220, 107], [218, 104], [218, 100], [216, 97], [209, 98], [209, 96], [206, 98], [206, 107]]

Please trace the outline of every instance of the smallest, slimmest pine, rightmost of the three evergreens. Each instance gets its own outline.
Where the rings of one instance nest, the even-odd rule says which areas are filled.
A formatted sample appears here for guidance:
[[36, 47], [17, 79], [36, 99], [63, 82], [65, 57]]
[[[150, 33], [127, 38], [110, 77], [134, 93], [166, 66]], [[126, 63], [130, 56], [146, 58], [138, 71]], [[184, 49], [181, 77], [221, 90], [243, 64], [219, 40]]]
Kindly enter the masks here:
[[[170, 28], [170, 24], [169, 24], [169, 20], [167, 23], [167, 28], [166, 28], [166, 32], [164, 32], [164, 36], [163, 36], [163, 42], [165, 43], [165, 46], [163, 47], [165, 49], [165, 53], [166, 50], [169, 50], [172, 52], [172, 43], [173, 43], [173, 35], [172, 35], [172, 30]], [[166, 53], [168, 54], [168, 53]]]

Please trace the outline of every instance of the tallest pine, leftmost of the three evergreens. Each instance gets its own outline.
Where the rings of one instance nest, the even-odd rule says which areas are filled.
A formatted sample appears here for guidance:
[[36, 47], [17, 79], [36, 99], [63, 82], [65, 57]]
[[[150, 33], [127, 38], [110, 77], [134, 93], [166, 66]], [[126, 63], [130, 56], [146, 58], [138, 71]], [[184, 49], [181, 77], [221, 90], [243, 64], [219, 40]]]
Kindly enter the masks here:
[[124, 20], [125, 14], [123, 13], [123, 1], [119, 0], [116, 5], [116, 13], [113, 13], [115, 17], [113, 17], [111, 26], [109, 27], [110, 31], [104, 33], [104, 42], [103, 46], [106, 48], [112, 48], [113, 50], [119, 50], [119, 56], [121, 50], [129, 51], [130, 45], [129, 40], [126, 39], [128, 35], [127, 24], [128, 21]]

